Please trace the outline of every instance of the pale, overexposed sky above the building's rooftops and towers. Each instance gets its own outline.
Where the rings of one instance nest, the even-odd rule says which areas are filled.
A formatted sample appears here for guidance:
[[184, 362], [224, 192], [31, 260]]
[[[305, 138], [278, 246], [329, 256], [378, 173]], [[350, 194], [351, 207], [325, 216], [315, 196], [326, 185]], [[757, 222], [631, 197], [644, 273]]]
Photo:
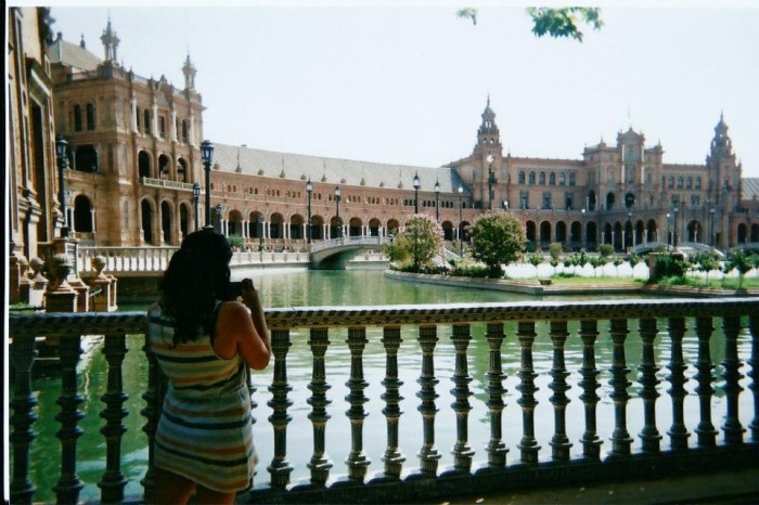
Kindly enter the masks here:
[[504, 154], [524, 157], [580, 159], [632, 128], [665, 163], [703, 164], [723, 114], [759, 177], [748, 1], [602, 2], [581, 43], [535, 37], [509, 1], [93, 3], [53, 1], [53, 30], [102, 57], [110, 16], [124, 66], [178, 88], [189, 53], [213, 142], [436, 167], [472, 153], [489, 98]]

